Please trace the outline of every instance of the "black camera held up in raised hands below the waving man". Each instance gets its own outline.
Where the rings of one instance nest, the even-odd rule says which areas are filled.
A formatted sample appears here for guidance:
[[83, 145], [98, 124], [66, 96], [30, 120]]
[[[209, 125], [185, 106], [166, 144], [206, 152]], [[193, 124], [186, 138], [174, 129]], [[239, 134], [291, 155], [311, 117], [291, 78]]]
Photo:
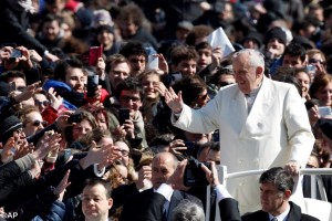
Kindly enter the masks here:
[[186, 187], [206, 187], [209, 185], [205, 171], [201, 169], [203, 164], [210, 169], [209, 162], [200, 162], [194, 158], [188, 160], [184, 176]]

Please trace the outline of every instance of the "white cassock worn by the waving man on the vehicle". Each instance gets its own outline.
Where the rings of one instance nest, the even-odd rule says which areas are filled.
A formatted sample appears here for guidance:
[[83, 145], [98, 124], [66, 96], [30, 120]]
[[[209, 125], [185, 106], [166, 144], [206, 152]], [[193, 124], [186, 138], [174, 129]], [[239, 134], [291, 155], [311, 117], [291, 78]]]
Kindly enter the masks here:
[[[248, 115], [245, 94], [227, 86], [205, 107], [187, 105], [173, 124], [184, 130], [207, 134], [219, 129], [221, 165], [228, 172], [283, 167], [297, 160], [304, 168], [314, 144], [307, 109], [297, 88], [267, 77]], [[241, 213], [260, 209], [259, 176], [227, 180]]]

